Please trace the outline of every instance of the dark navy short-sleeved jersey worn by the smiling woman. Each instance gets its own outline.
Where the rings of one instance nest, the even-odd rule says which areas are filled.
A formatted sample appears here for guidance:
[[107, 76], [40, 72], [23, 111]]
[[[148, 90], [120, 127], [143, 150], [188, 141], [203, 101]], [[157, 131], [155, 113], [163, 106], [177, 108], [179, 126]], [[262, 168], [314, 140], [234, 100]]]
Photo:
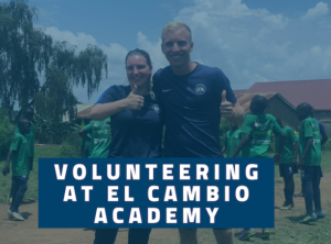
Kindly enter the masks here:
[[[130, 86], [108, 88], [96, 103], [125, 99]], [[110, 118], [111, 143], [108, 157], [161, 157], [163, 119], [161, 109], [150, 96], [143, 96], [140, 110], [121, 110]]]

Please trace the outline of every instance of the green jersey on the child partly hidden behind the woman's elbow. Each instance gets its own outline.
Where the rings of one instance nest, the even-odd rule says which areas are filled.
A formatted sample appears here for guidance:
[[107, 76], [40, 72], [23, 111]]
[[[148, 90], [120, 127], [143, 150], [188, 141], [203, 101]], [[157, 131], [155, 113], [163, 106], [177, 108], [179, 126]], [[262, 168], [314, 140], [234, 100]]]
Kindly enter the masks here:
[[[107, 123], [108, 122], [108, 123]], [[89, 157], [107, 157], [110, 146], [110, 119], [92, 121], [84, 127], [90, 135]]]

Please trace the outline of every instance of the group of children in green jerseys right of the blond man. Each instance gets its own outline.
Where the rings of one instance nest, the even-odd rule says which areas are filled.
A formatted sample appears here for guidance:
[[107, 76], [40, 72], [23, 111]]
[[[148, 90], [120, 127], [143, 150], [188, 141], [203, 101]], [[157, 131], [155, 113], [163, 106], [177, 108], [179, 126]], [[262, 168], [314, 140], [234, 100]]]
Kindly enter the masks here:
[[[298, 138], [291, 127], [282, 125], [280, 119], [276, 120], [271, 114], [265, 114], [266, 108], [267, 99], [263, 96], [255, 96], [250, 101], [250, 114], [246, 115], [243, 129], [238, 130], [237, 124], [231, 124], [231, 131], [225, 135], [222, 151], [227, 153], [227, 157], [269, 157], [268, 151], [274, 133], [275, 163], [279, 165], [279, 174], [285, 182], [285, 203], [280, 209], [289, 210], [295, 207], [293, 174], [297, 174], [299, 168], [307, 211], [306, 217], [299, 223], [307, 224], [324, 218], [320, 195], [320, 180], [323, 176], [321, 145], [328, 141], [328, 136], [322, 124], [313, 119], [313, 108], [310, 104], [306, 102], [299, 104], [296, 110], [301, 121]], [[239, 240], [249, 240], [255, 234], [254, 229], [244, 229]], [[269, 239], [269, 230], [263, 230], [261, 239]]]

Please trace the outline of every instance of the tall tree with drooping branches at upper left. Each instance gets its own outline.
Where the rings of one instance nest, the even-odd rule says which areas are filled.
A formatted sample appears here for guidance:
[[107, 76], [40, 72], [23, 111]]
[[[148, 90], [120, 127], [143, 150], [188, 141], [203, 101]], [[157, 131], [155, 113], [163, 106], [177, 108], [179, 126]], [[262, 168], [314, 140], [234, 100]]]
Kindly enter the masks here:
[[34, 25], [36, 18], [26, 0], [0, 3], [0, 103], [12, 120], [15, 102], [20, 108], [36, 102], [38, 113], [60, 123], [75, 114], [75, 86], [86, 86], [88, 98], [98, 89], [107, 56], [97, 46], [78, 53], [53, 42]]

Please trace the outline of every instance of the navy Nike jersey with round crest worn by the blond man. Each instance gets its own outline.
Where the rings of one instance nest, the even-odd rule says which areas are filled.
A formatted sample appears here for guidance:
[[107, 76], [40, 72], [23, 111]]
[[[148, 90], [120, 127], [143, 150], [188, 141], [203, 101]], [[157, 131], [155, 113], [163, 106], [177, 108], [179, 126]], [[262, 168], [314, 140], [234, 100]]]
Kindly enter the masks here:
[[223, 157], [220, 145], [222, 91], [236, 98], [218, 68], [196, 64], [184, 76], [170, 66], [153, 76], [153, 90], [166, 113], [164, 157]]

